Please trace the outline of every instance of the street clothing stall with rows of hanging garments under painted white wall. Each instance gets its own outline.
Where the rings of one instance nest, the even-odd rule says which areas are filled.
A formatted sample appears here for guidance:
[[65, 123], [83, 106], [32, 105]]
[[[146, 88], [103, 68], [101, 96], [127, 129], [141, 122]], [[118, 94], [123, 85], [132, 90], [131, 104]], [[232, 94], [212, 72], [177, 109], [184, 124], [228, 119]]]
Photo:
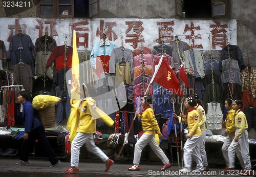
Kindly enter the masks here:
[[[51, 118], [46, 128], [54, 150], [59, 151], [60, 157], [70, 153], [66, 125], [71, 114], [74, 32], [80, 85], [86, 85], [97, 106], [115, 121], [113, 129], [97, 120], [95, 141], [108, 156], [117, 157], [135, 111], [142, 110], [140, 96], [146, 90], [154, 98], [151, 107], [165, 135], [160, 145], [166, 153], [176, 150], [175, 128], [179, 143], [180, 137], [185, 142], [186, 125], [176, 125], [173, 113], [186, 113], [184, 100], [194, 94], [205, 109], [206, 144], [224, 142], [222, 121], [227, 112], [224, 101], [230, 97], [243, 100], [250, 146], [254, 144], [256, 65], [250, 61], [252, 58], [245, 57], [238, 44], [236, 19], [79, 19], [60, 15], [2, 17], [0, 24], [1, 148], [19, 149], [24, 125], [17, 94], [24, 89], [32, 98], [37, 95], [60, 98], [55, 107], [42, 111], [41, 116]], [[177, 78], [182, 96], [151, 82], [162, 57], [175, 74], [162, 79]], [[82, 91], [81, 98], [84, 98]], [[136, 119], [127, 138], [124, 159], [132, 156], [140, 136], [141, 123]], [[11, 147], [6, 146], [6, 139]], [[40, 151], [39, 145], [36, 146], [31, 152]], [[90, 153], [86, 158], [91, 158]]]

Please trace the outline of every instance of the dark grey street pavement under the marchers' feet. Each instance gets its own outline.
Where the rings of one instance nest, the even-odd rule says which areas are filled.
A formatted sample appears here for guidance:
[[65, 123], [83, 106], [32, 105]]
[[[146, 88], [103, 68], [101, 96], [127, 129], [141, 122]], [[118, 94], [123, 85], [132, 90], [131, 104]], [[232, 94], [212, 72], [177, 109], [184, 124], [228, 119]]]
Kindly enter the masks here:
[[30, 157], [28, 166], [15, 165], [19, 162], [18, 157], [0, 158], [0, 177], [9, 176], [31, 176], [31, 177], [110, 177], [110, 176], [241, 176], [240, 170], [232, 171], [230, 174], [224, 174], [222, 168], [210, 166], [210, 171], [206, 173], [179, 173], [180, 167], [173, 164], [171, 168], [160, 171], [162, 163], [141, 161], [140, 171], [129, 171], [128, 167], [132, 166], [132, 161], [117, 161], [111, 166], [108, 172], [104, 172], [105, 164], [100, 160], [83, 159], [79, 163], [79, 173], [66, 174], [65, 170], [70, 167], [70, 159], [62, 159], [61, 164], [56, 167], [48, 167], [47, 158]]

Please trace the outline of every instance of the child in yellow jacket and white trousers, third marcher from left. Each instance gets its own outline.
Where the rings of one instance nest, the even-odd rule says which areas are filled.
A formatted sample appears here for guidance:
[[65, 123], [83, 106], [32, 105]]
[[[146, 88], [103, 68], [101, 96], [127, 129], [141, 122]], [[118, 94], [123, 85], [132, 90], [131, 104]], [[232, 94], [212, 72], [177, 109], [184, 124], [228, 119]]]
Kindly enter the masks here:
[[[202, 135], [201, 129], [199, 127], [199, 114], [197, 112], [196, 106], [197, 102], [194, 97], [188, 97], [185, 101], [185, 107], [187, 109], [186, 116], [183, 113], [180, 114], [183, 121], [187, 122], [188, 126], [188, 134], [186, 135], [186, 142], [183, 148], [183, 160], [184, 160], [184, 167], [180, 169], [180, 172], [186, 173], [191, 171], [192, 165], [192, 154], [195, 157], [195, 161], [197, 163], [197, 168], [194, 172], [201, 172], [204, 170], [203, 161], [199, 153], [198, 143], [200, 141], [200, 137]], [[174, 118], [180, 119], [174, 113]]]

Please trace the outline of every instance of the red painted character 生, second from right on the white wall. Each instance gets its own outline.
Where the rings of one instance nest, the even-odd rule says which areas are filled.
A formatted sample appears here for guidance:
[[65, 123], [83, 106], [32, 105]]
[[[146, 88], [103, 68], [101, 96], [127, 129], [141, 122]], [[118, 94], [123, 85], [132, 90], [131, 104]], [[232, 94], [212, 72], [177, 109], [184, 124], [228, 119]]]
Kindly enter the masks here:
[[195, 39], [201, 39], [200, 34], [195, 34], [195, 30], [201, 30], [200, 26], [195, 27], [194, 22], [190, 22], [190, 27], [186, 24], [183, 34], [190, 31], [190, 35], [186, 35], [186, 39], [191, 39], [191, 47], [195, 49], [203, 49], [202, 43], [200, 45], [195, 44]]

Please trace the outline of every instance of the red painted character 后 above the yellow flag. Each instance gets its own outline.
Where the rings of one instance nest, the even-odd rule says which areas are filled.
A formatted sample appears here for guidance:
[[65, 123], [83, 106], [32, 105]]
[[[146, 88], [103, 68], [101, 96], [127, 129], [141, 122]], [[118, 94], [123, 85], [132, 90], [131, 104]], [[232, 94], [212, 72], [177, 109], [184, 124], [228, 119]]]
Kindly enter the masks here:
[[[73, 30], [76, 31], [76, 47], [79, 46], [84, 46], [88, 47], [88, 38], [89, 38], [89, 33], [88, 31], [89, 28], [86, 27], [88, 25], [88, 21], [79, 21], [73, 24], [70, 24], [71, 30], [72, 30], [72, 39], [71, 39], [71, 45], [73, 46]], [[83, 38], [83, 41], [80, 41], [80, 38]]]

